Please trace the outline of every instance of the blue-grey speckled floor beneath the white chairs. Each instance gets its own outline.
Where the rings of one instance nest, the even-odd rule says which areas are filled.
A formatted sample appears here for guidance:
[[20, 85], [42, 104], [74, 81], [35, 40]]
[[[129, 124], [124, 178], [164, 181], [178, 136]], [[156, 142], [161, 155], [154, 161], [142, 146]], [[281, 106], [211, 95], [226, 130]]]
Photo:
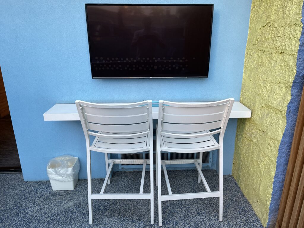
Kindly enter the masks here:
[[[203, 170], [211, 191], [218, 189], [218, 175]], [[163, 175], [163, 173], [162, 173]], [[155, 176], [155, 175], [154, 175]], [[174, 193], [205, 191], [197, 171], [168, 171]], [[141, 172], [115, 172], [106, 193], [137, 193]], [[102, 179], [93, 180], [98, 193]], [[162, 193], [167, 187], [162, 177]], [[144, 193], [150, 189], [146, 172]], [[218, 198], [166, 201], [163, 227], [263, 227], [232, 176], [224, 176], [223, 222], [218, 221]], [[148, 200], [93, 200], [93, 224], [88, 223], [87, 181], [74, 191], [53, 191], [49, 181], [24, 182], [22, 174], [0, 174], [0, 227], [158, 227], [157, 188], [154, 180], [154, 225]]]

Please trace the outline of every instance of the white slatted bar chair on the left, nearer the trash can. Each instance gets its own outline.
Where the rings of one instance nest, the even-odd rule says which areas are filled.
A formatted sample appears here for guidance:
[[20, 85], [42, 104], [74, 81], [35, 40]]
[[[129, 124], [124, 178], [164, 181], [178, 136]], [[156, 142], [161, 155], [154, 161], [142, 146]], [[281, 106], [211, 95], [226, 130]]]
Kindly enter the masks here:
[[[151, 224], [154, 223], [153, 205], [153, 126], [152, 102], [111, 105], [76, 101], [87, 145], [89, 223], [92, 224], [93, 199], [150, 199]], [[89, 136], [95, 136], [90, 142]], [[100, 193], [92, 193], [91, 151], [105, 153], [106, 176]], [[150, 160], [109, 159], [108, 154], [150, 151]], [[140, 192], [135, 194], [106, 194], [114, 164], [143, 164]], [[150, 193], [143, 193], [146, 164], [150, 166]]]

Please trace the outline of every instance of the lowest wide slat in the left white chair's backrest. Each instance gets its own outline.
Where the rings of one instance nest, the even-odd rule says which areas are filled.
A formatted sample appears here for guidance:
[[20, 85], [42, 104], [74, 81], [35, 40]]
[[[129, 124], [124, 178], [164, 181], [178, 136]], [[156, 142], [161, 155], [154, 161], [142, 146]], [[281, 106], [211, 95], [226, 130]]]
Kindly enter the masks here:
[[140, 132], [147, 131], [149, 128], [148, 122], [130, 124], [130, 125], [104, 125], [104, 124], [95, 124], [87, 123], [87, 127], [90, 130], [94, 131], [106, 131], [106, 132]]

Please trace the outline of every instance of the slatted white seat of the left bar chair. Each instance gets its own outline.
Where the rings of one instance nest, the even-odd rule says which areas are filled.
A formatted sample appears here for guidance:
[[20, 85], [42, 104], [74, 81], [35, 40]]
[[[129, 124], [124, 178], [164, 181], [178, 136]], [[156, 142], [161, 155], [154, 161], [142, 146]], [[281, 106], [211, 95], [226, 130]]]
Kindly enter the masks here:
[[[112, 133], [105, 133], [111, 134]], [[112, 153], [132, 153], [134, 150], [149, 150], [150, 140], [148, 136], [134, 136], [133, 138], [106, 138], [96, 136], [92, 146], [92, 150], [104, 150]], [[138, 151], [136, 151], [138, 152]], [[135, 153], [135, 152], [134, 152]]]

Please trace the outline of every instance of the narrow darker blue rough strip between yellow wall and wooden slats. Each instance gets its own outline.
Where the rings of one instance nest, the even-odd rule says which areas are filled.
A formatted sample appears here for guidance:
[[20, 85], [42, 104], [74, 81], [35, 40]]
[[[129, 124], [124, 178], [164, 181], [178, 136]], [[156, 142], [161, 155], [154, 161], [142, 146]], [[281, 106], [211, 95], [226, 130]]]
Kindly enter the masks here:
[[272, 186], [271, 201], [269, 206], [267, 227], [275, 227], [278, 216], [280, 200], [282, 196], [285, 174], [287, 170], [289, 154], [295, 132], [295, 124], [299, 112], [299, 105], [304, 83], [304, 5], [302, 6], [302, 34], [300, 37], [300, 45], [297, 56], [297, 73], [292, 83], [291, 99], [287, 105], [286, 127], [279, 146], [277, 157], [277, 168]]

